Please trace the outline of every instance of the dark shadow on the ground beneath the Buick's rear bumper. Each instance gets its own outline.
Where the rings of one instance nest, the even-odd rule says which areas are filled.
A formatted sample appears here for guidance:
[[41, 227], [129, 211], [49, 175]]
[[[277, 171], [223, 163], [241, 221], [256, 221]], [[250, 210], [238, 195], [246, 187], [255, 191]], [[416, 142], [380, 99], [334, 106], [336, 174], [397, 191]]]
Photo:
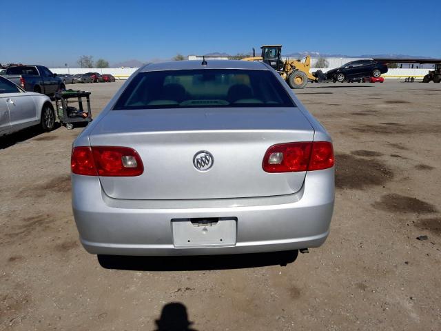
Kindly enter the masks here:
[[127, 257], [98, 255], [105, 269], [137, 271], [187, 271], [258, 268], [293, 263], [298, 250], [256, 254], [203, 255], [196, 257]]

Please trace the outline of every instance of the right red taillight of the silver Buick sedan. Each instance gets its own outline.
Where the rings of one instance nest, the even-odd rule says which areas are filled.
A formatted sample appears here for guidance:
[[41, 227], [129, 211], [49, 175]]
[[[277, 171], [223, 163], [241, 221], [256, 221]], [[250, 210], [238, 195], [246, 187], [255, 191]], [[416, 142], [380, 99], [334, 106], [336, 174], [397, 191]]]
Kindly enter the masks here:
[[298, 172], [331, 168], [334, 150], [327, 141], [280, 143], [268, 148], [262, 167], [266, 172]]

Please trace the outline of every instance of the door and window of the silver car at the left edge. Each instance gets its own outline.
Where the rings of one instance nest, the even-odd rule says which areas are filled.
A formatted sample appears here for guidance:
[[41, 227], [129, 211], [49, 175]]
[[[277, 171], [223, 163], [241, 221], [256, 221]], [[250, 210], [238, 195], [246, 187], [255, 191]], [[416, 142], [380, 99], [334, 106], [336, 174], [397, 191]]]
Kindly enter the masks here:
[[0, 90], [3, 91], [0, 94], [1, 99], [8, 107], [10, 128], [19, 130], [36, 124], [37, 109], [32, 96], [21, 90], [12, 81], [8, 81], [8, 79], [0, 77], [0, 84]]

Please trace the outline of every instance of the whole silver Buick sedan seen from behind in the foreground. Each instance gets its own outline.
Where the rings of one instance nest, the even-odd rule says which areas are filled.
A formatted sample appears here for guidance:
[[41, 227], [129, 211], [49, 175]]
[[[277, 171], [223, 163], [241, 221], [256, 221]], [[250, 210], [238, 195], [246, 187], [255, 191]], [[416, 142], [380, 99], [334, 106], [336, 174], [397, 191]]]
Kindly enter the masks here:
[[298, 250], [329, 234], [331, 138], [265, 63], [140, 68], [76, 138], [71, 166], [92, 254]]

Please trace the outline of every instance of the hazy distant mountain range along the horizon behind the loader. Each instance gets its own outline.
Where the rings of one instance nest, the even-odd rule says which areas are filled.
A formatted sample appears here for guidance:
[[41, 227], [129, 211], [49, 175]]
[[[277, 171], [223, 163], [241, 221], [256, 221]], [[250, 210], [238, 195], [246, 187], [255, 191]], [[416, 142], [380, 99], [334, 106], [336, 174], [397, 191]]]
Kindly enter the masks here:
[[[252, 56], [252, 52], [243, 52], [243, 53], [238, 53], [242, 56]], [[203, 54], [209, 57], [234, 57], [237, 56], [238, 54], [228, 54], [225, 52], [212, 52], [212, 53], [207, 53], [207, 54]], [[289, 54], [283, 54], [282, 57], [291, 57], [291, 58], [296, 58], [299, 59], [301, 57], [306, 57], [307, 55], [309, 55], [310, 57], [342, 57], [342, 58], [373, 58], [373, 57], [389, 57], [392, 59], [433, 59], [433, 57], [425, 57], [423, 55], [418, 55], [418, 56], [414, 56], [414, 55], [406, 55], [406, 54], [362, 54], [362, 55], [346, 55], [346, 54], [326, 54], [326, 53], [320, 53], [320, 52], [309, 52], [309, 51], [305, 51], [305, 52], [294, 52], [294, 53], [289, 53]], [[260, 56], [260, 52], [258, 50], [256, 50], [256, 56]], [[132, 59], [132, 60], [128, 60], [128, 61], [122, 61], [122, 62], [117, 62], [117, 63], [113, 63], [112, 64], [112, 68], [121, 68], [121, 67], [129, 67], [129, 68], [139, 68], [141, 66], [143, 66], [145, 63], [158, 63], [158, 62], [165, 62], [165, 61], [170, 61], [170, 59], [160, 59], [160, 58], [156, 58], [156, 59], [150, 59], [149, 61], [139, 61], [136, 59]]]

